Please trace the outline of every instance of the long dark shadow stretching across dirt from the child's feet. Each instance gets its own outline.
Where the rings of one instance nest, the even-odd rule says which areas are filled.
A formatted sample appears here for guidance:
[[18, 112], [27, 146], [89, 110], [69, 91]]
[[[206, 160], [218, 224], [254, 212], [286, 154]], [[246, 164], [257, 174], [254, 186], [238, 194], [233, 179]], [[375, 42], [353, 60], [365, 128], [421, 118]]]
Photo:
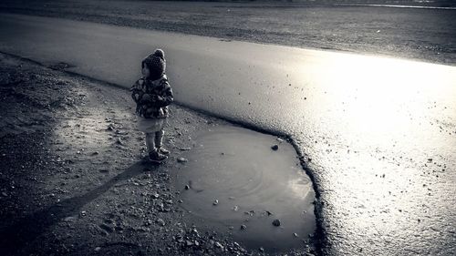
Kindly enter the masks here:
[[[68, 216], [77, 214], [84, 205], [97, 199], [98, 196], [108, 191], [119, 181], [144, 173], [144, 168], [142, 161], [137, 162], [114, 178], [109, 179], [105, 184], [88, 191], [84, 195], [62, 200], [47, 209], [38, 210], [0, 230], [0, 254], [16, 255], [16, 251], [25, 248], [29, 242], [35, 241], [36, 237], [45, 232], [47, 228]], [[148, 164], [147, 168], [153, 171], [158, 169], [159, 165]]]

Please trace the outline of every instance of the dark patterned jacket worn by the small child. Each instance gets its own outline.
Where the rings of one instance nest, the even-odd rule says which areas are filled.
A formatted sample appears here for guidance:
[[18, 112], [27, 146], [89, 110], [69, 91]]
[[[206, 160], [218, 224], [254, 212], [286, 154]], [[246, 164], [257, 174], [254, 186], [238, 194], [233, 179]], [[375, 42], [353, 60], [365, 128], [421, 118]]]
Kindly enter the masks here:
[[174, 100], [166, 75], [151, 81], [140, 78], [130, 88], [131, 97], [136, 102], [136, 114], [142, 118], [167, 118], [168, 105]]

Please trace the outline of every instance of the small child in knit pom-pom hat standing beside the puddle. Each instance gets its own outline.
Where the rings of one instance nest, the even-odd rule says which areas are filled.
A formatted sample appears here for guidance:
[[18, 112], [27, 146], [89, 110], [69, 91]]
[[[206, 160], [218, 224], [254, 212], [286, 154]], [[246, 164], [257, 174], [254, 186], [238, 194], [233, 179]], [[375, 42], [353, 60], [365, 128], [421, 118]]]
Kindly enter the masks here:
[[161, 162], [170, 151], [162, 147], [163, 125], [168, 118], [168, 105], [173, 101], [171, 86], [165, 75], [166, 60], [161, 49], [142, 60], [142, 77], [131, 87], [136, 102], [140, 131], [146, 134], [149, 158]]

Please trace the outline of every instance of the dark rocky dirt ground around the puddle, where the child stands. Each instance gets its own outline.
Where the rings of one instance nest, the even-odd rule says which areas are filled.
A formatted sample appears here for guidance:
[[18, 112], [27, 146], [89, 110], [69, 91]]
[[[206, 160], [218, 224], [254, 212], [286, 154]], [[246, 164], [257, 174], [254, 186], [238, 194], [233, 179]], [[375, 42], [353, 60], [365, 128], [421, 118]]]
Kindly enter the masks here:
[[0, 55], [2, 255], [264, 254], [183, 222], [171, 187], [193, 134], [226, 122], [172, 106], [153, 165], [130, 93], [64, 68]]

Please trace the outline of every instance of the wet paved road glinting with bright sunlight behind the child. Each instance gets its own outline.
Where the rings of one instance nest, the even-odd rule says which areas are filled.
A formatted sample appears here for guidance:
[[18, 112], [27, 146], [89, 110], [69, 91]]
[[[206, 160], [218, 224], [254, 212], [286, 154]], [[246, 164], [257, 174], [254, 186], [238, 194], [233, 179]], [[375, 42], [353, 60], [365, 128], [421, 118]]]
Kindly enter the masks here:
[[[30, 27], [29, 19], [21, 17], [18, 26]], [[64, 58], [77, 64], [72, 71], [119, 84], [133, 76], [134, 58], [173, 39], [166, 46], [181, 102], [293, 138], [316, 181], [324, 253], [451, 255], [456, 248], [454, 67], [77, 23], [65, 42], [72, 33], [73, 42], [87, 42], [72, 53], [69, 45], [41, 42], [63, 32], [47, 29], [52, 21], [34, 20], [39, 34], [4, 29], [35, 38], [39, 51], [12, 37], [3, 38], [15, 42], [4, 50], [53, 63]], [[88, 27], [104, 33], [91, 35]], [[154, 35], [161, 36], [150, 40]], [[88, 38], [106, 42], [90, 45]], [[182, 48], [180, 40], [186, 40]], [[126, 54], [116, 62], [109, 51]]]

